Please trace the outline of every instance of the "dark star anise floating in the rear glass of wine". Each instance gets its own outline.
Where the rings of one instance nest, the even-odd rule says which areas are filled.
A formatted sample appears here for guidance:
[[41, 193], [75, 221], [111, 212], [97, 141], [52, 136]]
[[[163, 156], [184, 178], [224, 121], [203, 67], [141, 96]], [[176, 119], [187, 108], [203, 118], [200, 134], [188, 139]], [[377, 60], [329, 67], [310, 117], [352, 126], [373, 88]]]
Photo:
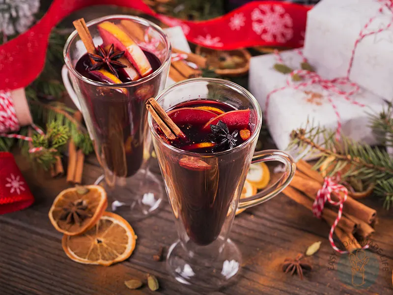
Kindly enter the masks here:
[[121, 58], [124, 55], [124, 51], [119, 51], [119, 52], [114, 52], [113, 49], [113, 44], [109, 48], [108, 52], [105, 52], [105, 49], [102, 48], [102, 46], [98, 46], [96, 49], [97, 54], [91, 54], [89, 53], [89, 57], [93, 59], [94, 61], [97, 61], [95, 64], [93, 64], [88, 70], [89, 71], [94, 71], [102, 68], [104, 65], [108, 67], [108, 70], [118, 77], [116, 68], [120, 67], [127, 67], [125, 64], [121, 63], [120, 61], [117, 61], [116, 59]]

